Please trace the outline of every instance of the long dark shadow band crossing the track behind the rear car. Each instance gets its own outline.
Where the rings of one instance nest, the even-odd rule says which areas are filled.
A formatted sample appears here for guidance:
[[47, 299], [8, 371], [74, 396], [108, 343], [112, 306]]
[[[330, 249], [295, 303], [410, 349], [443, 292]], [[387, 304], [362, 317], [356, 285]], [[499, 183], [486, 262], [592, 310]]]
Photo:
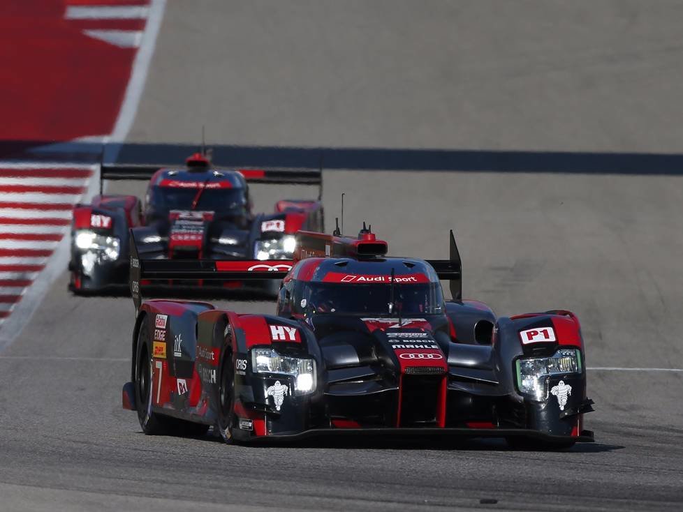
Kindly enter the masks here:
[[[87, 163], [178, 165], [198, 144], [0, 140], [0, 158]], [[683, 175], [681, 153], [493, 151], [294, 146], [212, 146], [225, 167], [443, 172]]]

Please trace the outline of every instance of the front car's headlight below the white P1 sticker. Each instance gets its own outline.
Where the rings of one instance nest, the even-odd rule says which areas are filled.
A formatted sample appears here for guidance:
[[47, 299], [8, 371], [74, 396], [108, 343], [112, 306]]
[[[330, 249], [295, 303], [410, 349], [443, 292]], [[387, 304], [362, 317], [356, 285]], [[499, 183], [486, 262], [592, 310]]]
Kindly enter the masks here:
[[548, 398], [548, 377], [581, 371], [580, 352], [559, 349], [550, 357], [517, 359], [517, 386], [534, 400], [545, 400]]

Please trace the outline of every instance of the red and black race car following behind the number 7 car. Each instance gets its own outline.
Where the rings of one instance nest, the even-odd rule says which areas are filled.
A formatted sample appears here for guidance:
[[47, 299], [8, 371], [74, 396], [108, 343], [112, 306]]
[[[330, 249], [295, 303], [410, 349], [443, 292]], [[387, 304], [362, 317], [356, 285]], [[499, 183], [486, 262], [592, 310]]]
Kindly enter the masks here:
[[[75, 207], [68, 286], [79, 294], [125, 289], [131, 227], [143, 257], [168, 259], [291, 259], [298, 229], [323, 229], [319, 197], [281, 200], [274, 213], [254, 214], [247, 183], [321, 185], [316, 171], [218, 169], [205, 153], [195, 153], [182, 169], [103, 165], [105, 179], [149, 179], [149, 186], [144, 207], [133, 195], [102, 193]], [[257, 288], [277, 292], [270, 281]]]

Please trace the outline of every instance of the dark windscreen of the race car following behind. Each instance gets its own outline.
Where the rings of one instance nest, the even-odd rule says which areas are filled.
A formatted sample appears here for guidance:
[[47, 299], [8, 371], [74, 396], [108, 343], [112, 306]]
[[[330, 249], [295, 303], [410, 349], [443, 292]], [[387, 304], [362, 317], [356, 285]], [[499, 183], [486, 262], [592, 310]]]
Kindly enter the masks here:
[[[197, 204], [192, 208], [192, 203], [199, 192], [201, 194]], [[244, 190], [241, 188], [200, 189], [154, 186], [149, 201], [156, 211], [194, 209], [233, 215], [244, 212], [247, 206], [247, 198], [244, 197]]]

